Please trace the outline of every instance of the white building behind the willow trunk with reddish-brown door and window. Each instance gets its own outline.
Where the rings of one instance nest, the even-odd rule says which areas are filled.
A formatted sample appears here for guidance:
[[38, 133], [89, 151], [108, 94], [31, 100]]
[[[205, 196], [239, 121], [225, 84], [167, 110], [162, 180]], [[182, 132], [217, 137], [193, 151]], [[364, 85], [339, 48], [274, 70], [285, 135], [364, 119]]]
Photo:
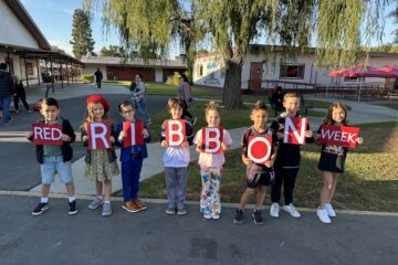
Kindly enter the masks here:
[[[298, 51], [293, 57], [283, 56], [282, 46], [250, 45], [242, 68], [242, 89], [247, 93], [261, 93], [264, 89], [280, 85], [286, 89], [314, 92], [325, 87], [355, 87], [360, 82], [363, 87], [392, 86], [395, 80], [376, 77], [329, 77], [329, 70], [315, 67], [315, 49], [303, 54]], [[363, 55], [363, 61], [365, 54]], [[368, 65], [380, 67], [396, 65], [397, 53], [370, 52]], [[196, 56], [192, 80], [196, 85], [223, 87], [226, 68], [222, 56], [217, 53], [206, 53]]]

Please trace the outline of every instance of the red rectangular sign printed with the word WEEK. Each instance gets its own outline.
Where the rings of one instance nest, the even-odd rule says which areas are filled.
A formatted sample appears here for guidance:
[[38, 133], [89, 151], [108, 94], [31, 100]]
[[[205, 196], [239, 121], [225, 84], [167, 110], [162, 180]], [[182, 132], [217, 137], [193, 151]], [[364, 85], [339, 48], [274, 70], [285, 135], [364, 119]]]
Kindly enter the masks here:
[[349, 126], [321, 125], [320, 144], [355, 148], [359, 128]]

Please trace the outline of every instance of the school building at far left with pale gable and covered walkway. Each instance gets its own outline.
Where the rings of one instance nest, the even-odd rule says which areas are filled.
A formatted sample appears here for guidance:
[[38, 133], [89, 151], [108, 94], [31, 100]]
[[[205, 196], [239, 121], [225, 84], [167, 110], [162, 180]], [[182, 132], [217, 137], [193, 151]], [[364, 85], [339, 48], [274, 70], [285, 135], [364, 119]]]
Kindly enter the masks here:
[[0, 62], [7, 63], [25, 87], [54, 80], [62, 86], [77, 81], [82, 63], [51, 50], [20, 0], [0, 0]]

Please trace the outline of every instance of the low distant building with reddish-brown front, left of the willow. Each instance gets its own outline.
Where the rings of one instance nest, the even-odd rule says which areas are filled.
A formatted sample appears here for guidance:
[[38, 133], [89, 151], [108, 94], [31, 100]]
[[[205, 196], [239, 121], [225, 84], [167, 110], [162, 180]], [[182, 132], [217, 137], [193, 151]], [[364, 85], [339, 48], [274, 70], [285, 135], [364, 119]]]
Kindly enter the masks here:
[[83, 56], [83, 74], [94, 74], [100, 68], [104, 81], [133, 81], [142, 74], [145, 82], [166, 82], [174, 73], [187, 71], [187, 63], [178, 60], [143, 60], [107, 56]]

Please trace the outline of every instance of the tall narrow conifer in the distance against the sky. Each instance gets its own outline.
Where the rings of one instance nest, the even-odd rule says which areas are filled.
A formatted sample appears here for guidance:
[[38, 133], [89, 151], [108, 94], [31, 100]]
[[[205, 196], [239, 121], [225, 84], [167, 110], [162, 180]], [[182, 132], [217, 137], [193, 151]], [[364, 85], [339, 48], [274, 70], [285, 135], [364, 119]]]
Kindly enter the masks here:
[[72, 41], [70, 43], [73, 45], [72, 52], [77, 60], [94, 51], [95, 42], [92, 36], [90, 18], [82, 9], [76, 9], [73, 13]]

